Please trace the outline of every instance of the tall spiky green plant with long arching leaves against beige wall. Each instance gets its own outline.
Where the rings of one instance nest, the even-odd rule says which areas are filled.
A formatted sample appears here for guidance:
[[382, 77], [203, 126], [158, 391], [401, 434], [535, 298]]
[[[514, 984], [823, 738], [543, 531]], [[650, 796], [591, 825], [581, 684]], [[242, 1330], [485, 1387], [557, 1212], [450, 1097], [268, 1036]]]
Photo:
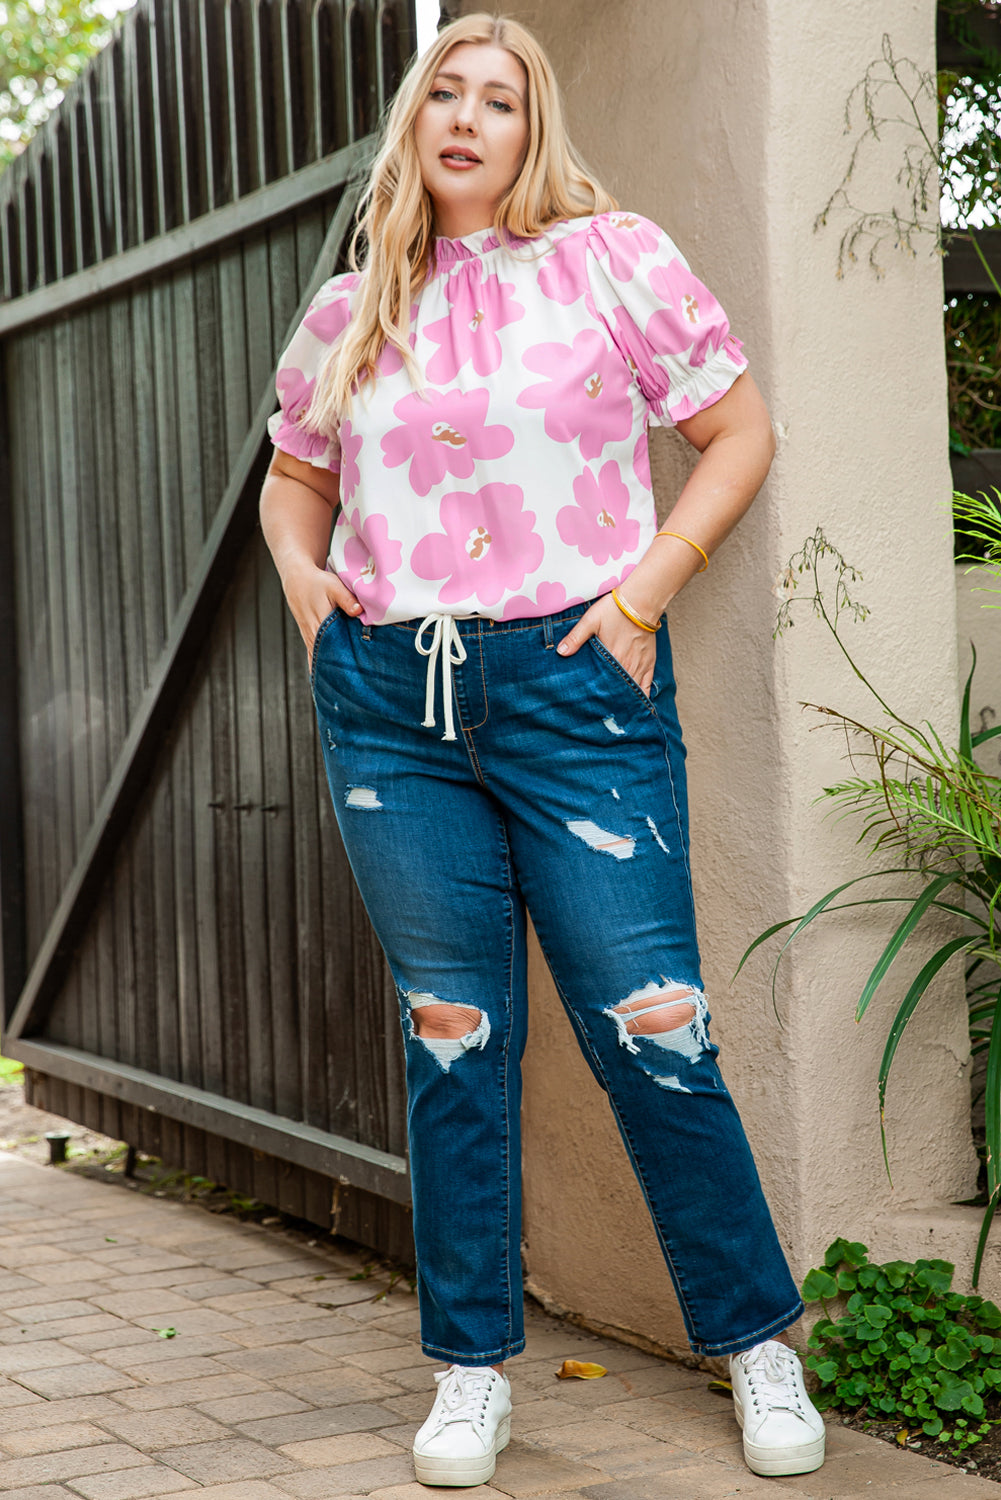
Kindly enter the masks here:
[[[1001, 496], [999, 496], [1001, 498]], [[956, 513], [965, 532], [986, 550], [986, 572], [1001, 574], [1001, 514], [986, 496], [957, 495]], [[833, 579], [822, 578], [833, 568]], [[810, 588], [797, 592], [800, 580]], [[927, 930], [929, 918], [945, 914], [951, 918], [951, 933], [938, 940], [909, 978], [887, 1035], [879, 1064], [878, 1104], [882, 1154], [887, 1155], [884, 1106], [890, 1068], [900, 1038], [920, 1000], [939, 970], [962, 954], [966, 960], [966, 994], [969, 999], [969, 1036], [974, 1054], [986, 1054], [984, 1082], [984, 1161], [987, 1198], [980, 1227], [972, 1281], [977, 1286], [980, 1264], [993, 1214], [1001, 1198], [1001, 778], [986, 771], [975, 752], [986, 741], [1001, 735], [1001, 726], [974, 732], [971, 723], [971, 687], [974, 666], [966, 678], [962, 698], [959, 744], [950, 746], [924, 722], [911, 723], [896, 712], [864, 675], [843, 640], [842, 616], [864, 620], [867, 610], [852, 598], [860, 573], [827, 540], [821, 528], [794, 554], [782, 578], [783, 600], [776, 622], [776, 634], [792, 624], [792, 610], [807, 604], [824, 621], [834, 642], [860, 682], [884, 711], [882, 723], [864, 723], [849, 714], [819, 704], [804, 708], [824, 716], [845, 735], [852, 776], [824, 788], [818, 801], [843, 818], [861, 820], [858, 843], [873, 855], [896, 856], [887, 867], [870, 870], [845, 880], [815, 902], [801, 916], [786, 918], [768, 927], [747, 948], [737, 972], [750, 954], [777, 933], [791, 928], [773, 969], [774, 978], [782, 954], [821, 915], [858, 908], [903, 906], [882, 952], [876, 958], [855, 1004], [855, 1020], [861, 1020], [869, 1004], [887, 976], [891, 964], [905, 952], [914, 934]], [[828, 603], [830, 600], [830, 603]], [[891, 894], [864, 894], [842, 900], [869, 880], [884, 882], [908, 878], [903, 890]], [[914, 880], [917, 879], [917, 891]], [[962, 930], [956, 932], [956, 920]]]

